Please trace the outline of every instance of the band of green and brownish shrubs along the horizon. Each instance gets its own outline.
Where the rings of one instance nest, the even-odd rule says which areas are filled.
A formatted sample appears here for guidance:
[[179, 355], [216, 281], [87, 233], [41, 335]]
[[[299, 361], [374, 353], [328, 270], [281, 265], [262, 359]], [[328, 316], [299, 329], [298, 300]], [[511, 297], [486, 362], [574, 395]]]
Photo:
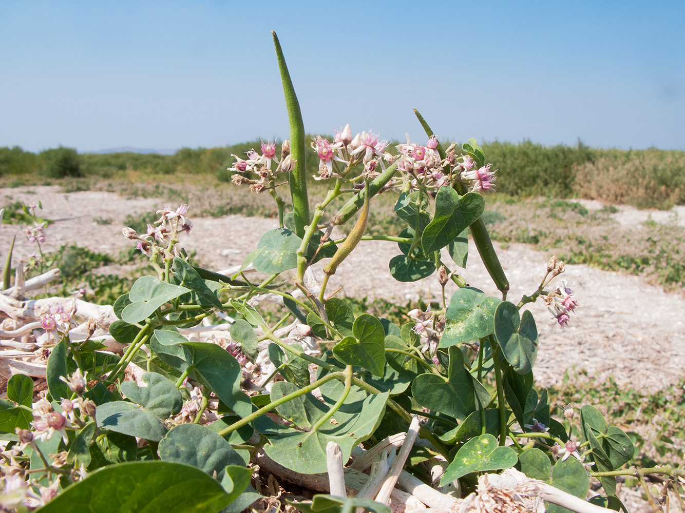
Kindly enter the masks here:
[[[391, 145], [392, 146], [392, 145]], [[489, 162], [499, 170], [497, 190], [507, 196], [530, 198], [588, 198], [625, 203], [640, 208], [669, 209], [685, 204], [685, 152], [678, 150], [617, 150], [576, 146], [545, 147], [519, 144], [483, 144]], [[40, 153], [18, 146], [0, 148], [0, 180], [4, 185], [25, 185], [66, 176], [105, 179], [142, 175], [209, 175], [229, 182], [227, 171], [235, 159], [260, 142], [223, 148], [181, 148], [174, 155], [139, 153], [84, 153], [55, 148]], [[308, 174], [316, 174], [318, 159], [309, 149]]]

